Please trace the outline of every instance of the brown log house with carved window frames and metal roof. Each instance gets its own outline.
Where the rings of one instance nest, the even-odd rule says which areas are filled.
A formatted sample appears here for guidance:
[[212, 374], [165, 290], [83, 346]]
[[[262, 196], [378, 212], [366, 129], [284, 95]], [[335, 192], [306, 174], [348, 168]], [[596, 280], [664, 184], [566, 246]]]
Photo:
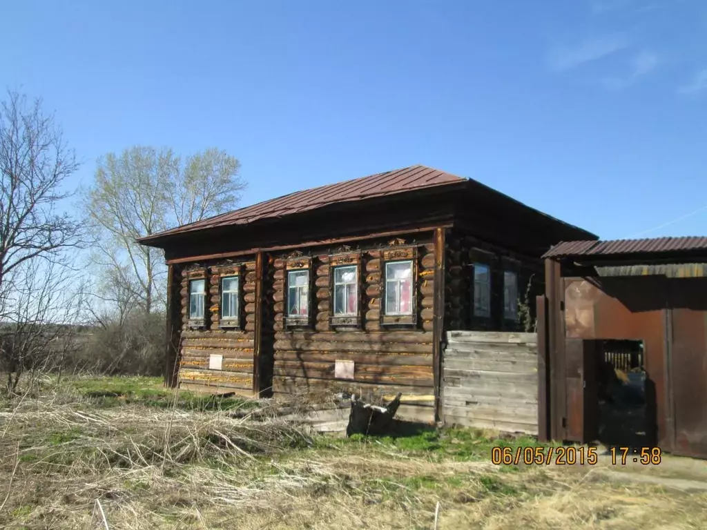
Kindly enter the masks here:
[[439, 414], [444, 332], [520, 329], [555, 242], [595, 235], [416, 165], [143, 237], [169, 266], [165, 379], [255, 396], [403, 394]]

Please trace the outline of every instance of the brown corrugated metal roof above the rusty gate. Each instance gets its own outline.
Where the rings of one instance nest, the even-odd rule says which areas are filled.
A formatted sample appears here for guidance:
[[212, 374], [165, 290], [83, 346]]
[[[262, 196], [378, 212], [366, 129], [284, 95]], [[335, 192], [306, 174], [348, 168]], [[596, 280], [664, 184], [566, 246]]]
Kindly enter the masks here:
[[615, 254], [661, 254], [707, 250], [707, 237], [655, 237], [641, 240], [563, 241], [544, 258], [612, 256]]

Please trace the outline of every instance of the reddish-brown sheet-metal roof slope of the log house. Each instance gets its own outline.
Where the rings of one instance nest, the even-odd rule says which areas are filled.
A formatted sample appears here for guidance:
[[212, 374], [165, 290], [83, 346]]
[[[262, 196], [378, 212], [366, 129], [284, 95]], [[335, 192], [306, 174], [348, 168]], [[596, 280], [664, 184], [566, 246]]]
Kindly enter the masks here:
[[158, 234], [142, 237], [140, 242], [163, 237], [165, 235], [175, 235], [204, 228], [214, 228], [217, 226], [245, 225], [255, 220], [265, 218], [279, 218], [293, 213], [310, 211], [329, 204], [336, 204], [346, 201], [358, 201], [370, 197], [385, 196], [409, 192], [414, 189], [424, 189], [446, 184], [456, 184], [465, 182], [467, 179], [450, 175], [440, 170], [426, 167], [424, 165], [414, 165], [404, 167], [400, 170], [387, 171], [368, 177], [346, 180], [337, 184], [327, 184], [312, 189], [305, 189], [301, 192], [294, 192], [288, 195], [270, 199], [268, 201], [253, 204], [245, 208], [222, 213], [219, 216], [199, 220], [196, 223], [182, 225], [177, 228], [165, 230]]

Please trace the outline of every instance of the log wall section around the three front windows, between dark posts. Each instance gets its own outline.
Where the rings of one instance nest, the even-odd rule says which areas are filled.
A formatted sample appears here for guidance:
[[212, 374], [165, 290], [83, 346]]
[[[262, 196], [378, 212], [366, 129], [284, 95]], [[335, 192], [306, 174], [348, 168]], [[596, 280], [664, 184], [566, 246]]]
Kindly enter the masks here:
[[[288, 329], [285, 323], [286, 255], [274, 259], [274, 394], [349, 392], [366, 399], [392, 399], [400, 391], [399, 416], [433, 420], [432, 320], [434, 247], [416, 243], [416, 324], [387, 326], [381, 322], [383, 253], [361, 252], [359, 326], [334, 327], [329, 322], [329, 252], [310, 252], [310, 326]], [[306, 249], [303, 249], [306, 250]], [[337, 360], [354, 362], [353, 379], [337, 379]]]

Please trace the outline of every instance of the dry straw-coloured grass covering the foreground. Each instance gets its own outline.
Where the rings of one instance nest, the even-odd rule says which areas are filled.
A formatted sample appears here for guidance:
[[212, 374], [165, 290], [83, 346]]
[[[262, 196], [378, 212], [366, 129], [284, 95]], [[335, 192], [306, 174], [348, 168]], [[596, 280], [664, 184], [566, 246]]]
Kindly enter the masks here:
[[440, 502], [439, 529], [704, 527], [707, 495], [493, 466], [478, 435], [341, 440], [246, 410], [13, 403], [0, 413], [0, 526], [433, 529]]

